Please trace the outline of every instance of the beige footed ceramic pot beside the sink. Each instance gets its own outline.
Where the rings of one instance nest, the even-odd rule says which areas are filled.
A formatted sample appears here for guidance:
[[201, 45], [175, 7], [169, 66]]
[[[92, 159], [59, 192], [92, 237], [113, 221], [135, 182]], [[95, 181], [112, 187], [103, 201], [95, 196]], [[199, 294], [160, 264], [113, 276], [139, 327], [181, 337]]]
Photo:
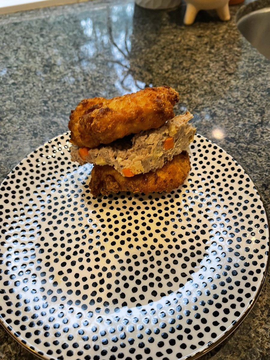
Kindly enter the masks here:
[[200, 10], [215, 9], [219, 18], [223, 21], [230, 20], [229, 0], [185, 0], [186, 12], [184, 24], [193, 24]]

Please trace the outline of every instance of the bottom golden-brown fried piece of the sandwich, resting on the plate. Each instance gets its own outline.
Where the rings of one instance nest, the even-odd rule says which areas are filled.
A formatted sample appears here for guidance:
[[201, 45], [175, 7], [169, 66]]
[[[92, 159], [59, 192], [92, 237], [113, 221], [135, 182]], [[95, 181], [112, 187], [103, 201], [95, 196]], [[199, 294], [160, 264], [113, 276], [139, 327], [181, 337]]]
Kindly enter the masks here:
[[119, 191], [132, 193], [171, 192], [183, 184], [190, 170], [189, 155], [183, 152], [174, 156], [161, 169], [147, 174], [124, 177], [112, 166], [95, 165], [91, 173], [89, 188], [96, 197]]

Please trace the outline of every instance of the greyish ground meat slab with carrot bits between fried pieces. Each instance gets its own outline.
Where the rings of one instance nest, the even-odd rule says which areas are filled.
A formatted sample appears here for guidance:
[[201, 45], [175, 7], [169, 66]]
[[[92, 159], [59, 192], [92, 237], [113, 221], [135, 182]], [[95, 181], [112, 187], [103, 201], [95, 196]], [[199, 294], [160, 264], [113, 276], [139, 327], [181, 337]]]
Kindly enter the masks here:
[[117, 145], [87, 149], [82, 154], [79, 148], [73, 145], [71, 159], [80, 165], [87, 162], [109, 165], [123, 176], [154, 171], [186, 150], [193, 141], [195, 128], [188, 123], [191, 118], [192, 115], [187, 112], [168, 120], [158, 129], [140, 132], [131, 139], [132, 146], [127, 146], [123, 139], [122, 148], [118, 142]]

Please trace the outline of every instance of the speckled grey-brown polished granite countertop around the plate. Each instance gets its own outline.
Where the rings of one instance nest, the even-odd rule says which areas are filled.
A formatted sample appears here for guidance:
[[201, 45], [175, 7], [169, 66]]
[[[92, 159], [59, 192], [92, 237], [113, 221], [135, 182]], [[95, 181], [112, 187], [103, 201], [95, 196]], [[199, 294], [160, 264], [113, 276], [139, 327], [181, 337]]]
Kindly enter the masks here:
[[[260, 0], [258, 0], [260, 1]], [[267, 3], [267, 1], [264, 1]], [[269, 4], [269, 2], [268, 2]], [[184, 8], [144, 10], [128, 0], [92, 1], [0, 17], [0, 180], [28, 153], [67, 131], [82, 99], [168, 84], [176, 113], [242, 165], [270, 210], [270, 63], [231, 20]], [[269, 274], [243, 323], [203, 360], [267, 360]], [[0, 359], [37, 359], [0, 329]]]

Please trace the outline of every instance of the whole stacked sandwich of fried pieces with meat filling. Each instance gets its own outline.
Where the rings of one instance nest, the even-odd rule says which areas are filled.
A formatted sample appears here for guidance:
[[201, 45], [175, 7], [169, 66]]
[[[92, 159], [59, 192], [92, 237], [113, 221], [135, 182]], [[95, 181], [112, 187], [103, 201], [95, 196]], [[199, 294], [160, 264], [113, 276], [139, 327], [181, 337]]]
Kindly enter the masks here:
[[196, 129], [189, 112], [175, 116], [178, 101], [174, 89], [159, 86], [112, 99], [84, 99], [71, 111], [71, 160], [94, 164], [89, 188], [95, 197], [171, 192], [183, 184]]

